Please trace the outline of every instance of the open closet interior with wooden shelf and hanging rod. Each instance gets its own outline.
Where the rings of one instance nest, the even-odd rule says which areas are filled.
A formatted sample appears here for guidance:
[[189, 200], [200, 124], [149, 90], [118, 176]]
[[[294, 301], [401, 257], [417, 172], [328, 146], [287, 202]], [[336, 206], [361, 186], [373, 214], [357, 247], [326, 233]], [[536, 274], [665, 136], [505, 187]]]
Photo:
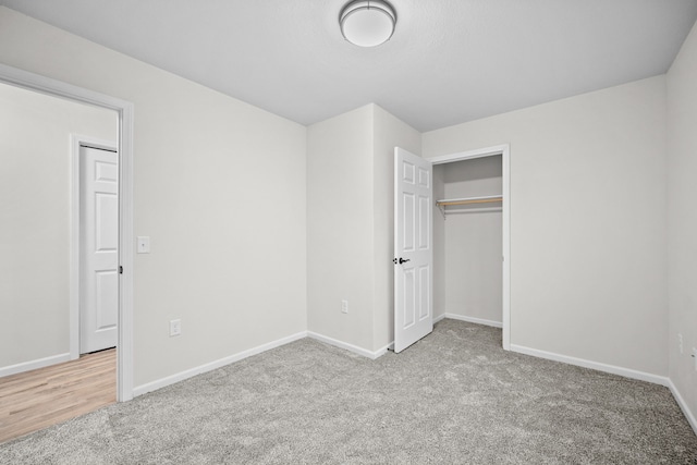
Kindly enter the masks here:
[[433, 316], [502, 327], [502, 156], [433, 166]]

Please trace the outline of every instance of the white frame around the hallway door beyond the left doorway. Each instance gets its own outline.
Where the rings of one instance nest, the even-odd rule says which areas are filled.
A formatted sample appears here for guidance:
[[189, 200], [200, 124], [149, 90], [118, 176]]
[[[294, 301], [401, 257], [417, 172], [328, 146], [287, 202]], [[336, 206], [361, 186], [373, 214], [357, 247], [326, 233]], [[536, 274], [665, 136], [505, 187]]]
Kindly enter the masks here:
[[[102, 150], [115, 151], [119, 155], [119, 147], [115, 142], [102, 140], [80, 134], [70, 135], [70, 154], [71, 154], [71, 196], [70, 196], [70, 359], [75, 360], [80, 357], [80, 321], [82, 301], [82, 282], [80, 280], [81, 264], [80, 259], [82, 250], [82, 241], [80, 222], [82, 221], [80, 200], [83, 196], [82, 192], [82, 172], [80, 170], [80, 151], [82, 147], [93, 147]], [[119, 160], [120, 162], [121, 160]], [[117, 353], [119, 345], [117, 344]]]

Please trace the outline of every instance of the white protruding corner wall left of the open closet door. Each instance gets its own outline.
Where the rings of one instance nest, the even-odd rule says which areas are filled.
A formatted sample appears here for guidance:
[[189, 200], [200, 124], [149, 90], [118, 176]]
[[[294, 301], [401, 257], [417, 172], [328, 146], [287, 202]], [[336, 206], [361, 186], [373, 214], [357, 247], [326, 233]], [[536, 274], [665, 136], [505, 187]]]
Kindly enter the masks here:
[[307, 140], [308, 330], [376, 353], [394, 338], [394, 147], [418, 154], [420, 134], [367, 105]]

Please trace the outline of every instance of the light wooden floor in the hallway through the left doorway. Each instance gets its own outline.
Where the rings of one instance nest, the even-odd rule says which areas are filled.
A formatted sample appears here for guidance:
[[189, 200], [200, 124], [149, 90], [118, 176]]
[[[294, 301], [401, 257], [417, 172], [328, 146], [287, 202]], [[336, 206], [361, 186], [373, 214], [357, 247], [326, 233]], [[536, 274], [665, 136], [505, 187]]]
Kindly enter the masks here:
[[0, 378], [0, 443], [115, 401], [115, 348]]

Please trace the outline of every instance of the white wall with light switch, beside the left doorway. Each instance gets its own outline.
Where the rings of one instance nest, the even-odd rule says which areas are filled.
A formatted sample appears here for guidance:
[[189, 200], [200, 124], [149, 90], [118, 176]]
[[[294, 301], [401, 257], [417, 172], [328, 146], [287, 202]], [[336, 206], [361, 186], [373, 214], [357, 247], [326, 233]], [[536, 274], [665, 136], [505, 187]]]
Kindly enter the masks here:
[[7, 8], [0, 62], [134, 103], [136, 388], [306, 329], [304, 126]]

